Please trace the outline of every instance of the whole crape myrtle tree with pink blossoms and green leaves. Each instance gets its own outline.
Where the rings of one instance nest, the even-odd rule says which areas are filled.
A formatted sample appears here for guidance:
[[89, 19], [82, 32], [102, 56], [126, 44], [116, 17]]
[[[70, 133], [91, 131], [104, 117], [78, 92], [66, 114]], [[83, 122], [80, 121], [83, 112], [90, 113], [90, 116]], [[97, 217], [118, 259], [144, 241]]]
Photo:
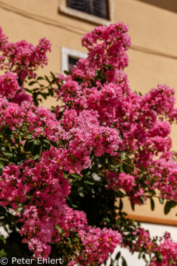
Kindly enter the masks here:
[[[9, 43], [0, 31], [0, 211], [8, 233], [1, 257], [100, 265], [119, 245], [145, 265], [176, 265], [170, 234], [152, 238], [122, 211], [124, 197], [132, 209], [167, 200], [165, 213], [177, 201], [174, 91], [130, 90], [127, 30], [120, 22], [86, 33], [88, 56], [65, 77], [37, 75], [51, 50], [45, 38], [34, 47]], [[48, 96], [61, 106], [39, 107]], [[111, 265], [127, 265], [126, 258], [118, 252]]]

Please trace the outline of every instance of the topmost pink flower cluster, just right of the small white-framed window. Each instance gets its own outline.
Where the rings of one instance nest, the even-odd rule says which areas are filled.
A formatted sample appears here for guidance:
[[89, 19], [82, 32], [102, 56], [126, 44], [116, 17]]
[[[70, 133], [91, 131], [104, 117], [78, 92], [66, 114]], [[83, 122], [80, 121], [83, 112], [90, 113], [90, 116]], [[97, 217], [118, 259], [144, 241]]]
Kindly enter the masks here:
[[[89, 51], [87, 59], [79, 59], [72, 70], [72, 79], [82, 81], [84, 86], [95, 82], [99, 87], [97, 72], [106, 74], [108, 82], [120, 81], [124, 69], [128, 65], [126, 50], [130, 46], [130, 37], [126, 33], [128, 27], [122, 22], [99, 26], [82, 38], [82, 46]], [[106, 73], [105, 73], [106, 70]], [[121, 77], [122, 78], [122, 77]]]

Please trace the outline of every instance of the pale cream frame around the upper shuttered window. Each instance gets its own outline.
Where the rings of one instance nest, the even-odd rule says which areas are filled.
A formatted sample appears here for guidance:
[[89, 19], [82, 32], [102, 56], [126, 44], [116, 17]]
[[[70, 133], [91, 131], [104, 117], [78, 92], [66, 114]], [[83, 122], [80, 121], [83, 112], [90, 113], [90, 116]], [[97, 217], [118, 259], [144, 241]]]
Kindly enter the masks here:
[[66, 6], [66, 0], [59, 0], [59, 11], [70, 15], [72, 17], [80, 18], [82, 20], [90, 21], [98, 25], [109, 26], [111, 23], [115, 22], [115, 0], [108, 0], [108, 11], [109, 11], [109, 20], [100, 18], [85, 12], [81, 12], [76, 9], [72, 9]]

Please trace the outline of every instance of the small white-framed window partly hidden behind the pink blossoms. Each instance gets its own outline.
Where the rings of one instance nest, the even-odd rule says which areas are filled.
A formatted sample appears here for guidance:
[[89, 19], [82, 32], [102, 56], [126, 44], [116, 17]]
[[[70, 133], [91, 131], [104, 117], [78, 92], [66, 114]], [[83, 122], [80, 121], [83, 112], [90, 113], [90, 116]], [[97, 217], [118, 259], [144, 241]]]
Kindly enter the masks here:
[[86, 57], [87, 57], [86, 53], [62, 47], [61, 48], [62, 73], [64, 73], [64, 70], [71, 71], [79, 58], [86, 58]]

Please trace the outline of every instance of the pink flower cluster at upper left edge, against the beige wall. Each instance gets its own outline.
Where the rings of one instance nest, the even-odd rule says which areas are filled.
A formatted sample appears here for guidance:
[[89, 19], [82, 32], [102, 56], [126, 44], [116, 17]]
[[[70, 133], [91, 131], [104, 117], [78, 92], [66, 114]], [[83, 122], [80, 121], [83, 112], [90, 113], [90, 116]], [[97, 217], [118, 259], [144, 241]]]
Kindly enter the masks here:
[[0, 50], [2, 51], [1, 69], [15, 72], [23, 82], [27, 75], [31, 78], [35, 77], [34, 70], [38, 66], [43, 67], [47, 64], [46, 52], [51, 51], [51, 44], [46, 38], [39, 40], [39, 44], [35, 47], [26, 41], [9, 43], [0, 28]]

